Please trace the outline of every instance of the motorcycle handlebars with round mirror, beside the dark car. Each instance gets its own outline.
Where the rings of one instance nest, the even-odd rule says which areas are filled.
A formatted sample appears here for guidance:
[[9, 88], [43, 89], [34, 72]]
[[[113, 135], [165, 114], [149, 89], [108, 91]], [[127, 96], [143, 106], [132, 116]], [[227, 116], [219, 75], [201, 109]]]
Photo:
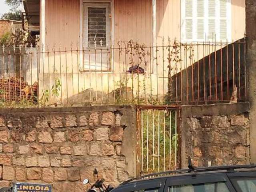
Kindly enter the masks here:
[[96, 189], [99, 189], [100, 192], [110, 192], [112, 189], [114, 189], [114, 187], [111, 185], [108, 185], [107, 187], [104, 185], [105, 179], [99, 179], [97, 169], [94, 169], [94, 175], [97, 176], [97, 181], [94, 184], [90, 184], [88, 179], [83, 181], [84, 185], [90, 184], [91, 186], [90, 189], [88, 189], [88, 192], [98, 192]]

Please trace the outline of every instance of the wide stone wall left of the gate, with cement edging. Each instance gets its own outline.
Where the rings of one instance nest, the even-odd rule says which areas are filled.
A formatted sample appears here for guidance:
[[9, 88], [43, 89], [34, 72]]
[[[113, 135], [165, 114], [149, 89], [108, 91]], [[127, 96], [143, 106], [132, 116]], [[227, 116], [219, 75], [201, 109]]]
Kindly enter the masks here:
[[82, 192], [94, 168], [115, 186], [135, 176], [134, 162], [132, 106], [0, 110], [0, 187], [26, 181]]

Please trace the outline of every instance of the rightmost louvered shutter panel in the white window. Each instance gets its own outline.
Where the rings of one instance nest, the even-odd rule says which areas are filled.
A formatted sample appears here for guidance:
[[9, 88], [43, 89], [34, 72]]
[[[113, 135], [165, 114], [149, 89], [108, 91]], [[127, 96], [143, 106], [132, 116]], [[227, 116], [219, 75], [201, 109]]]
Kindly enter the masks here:
[[227, 39], [228, 22], [227, 22], [228, 0], [220, 0], [220, 40]]

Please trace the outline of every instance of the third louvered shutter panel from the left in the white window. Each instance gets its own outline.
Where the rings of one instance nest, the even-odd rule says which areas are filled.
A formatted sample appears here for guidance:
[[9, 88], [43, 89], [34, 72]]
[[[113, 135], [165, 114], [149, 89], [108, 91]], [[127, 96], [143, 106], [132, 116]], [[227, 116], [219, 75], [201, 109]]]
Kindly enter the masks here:
[[208, 39], [216, 38], [216, 0], [208, 0]]

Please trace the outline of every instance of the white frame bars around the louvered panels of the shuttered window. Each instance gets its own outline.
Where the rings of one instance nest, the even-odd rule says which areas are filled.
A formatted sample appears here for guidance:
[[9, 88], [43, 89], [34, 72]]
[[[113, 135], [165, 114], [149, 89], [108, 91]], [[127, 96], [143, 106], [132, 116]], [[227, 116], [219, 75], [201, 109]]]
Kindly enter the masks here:
[[[215, 22], [215, 32], [216, 33], [216, 42], [220, 42], [220, 1], [216, 0], [216, 15], [218, 15], [218, 20]], [[227, 0], [227, 40], [230, 42], [232, 40], [232, 7], [231, 7], [231, 0]], [[219, 7], [217, 9], [217, 7]], [[207, 9], [206, 9], [207, 8]], [[215, 17], [216, 18], [216, 17]], [[192, 0], [192, 39], [187, 39], [186, 37], [186, 0], [181, 0], [181, 42], [206, 42], [208, 41], [208, 0], [204, 0], [204, 33], [206, 36], [204, 36], [204, 39], [198, 39], [197, 37], [197, 0]], [[212, 40], [211, 40], [212, 41]], [[226, 40], [222, 40], [226, 41]], [[215, 40], [214, 40], [215, 42]]]

